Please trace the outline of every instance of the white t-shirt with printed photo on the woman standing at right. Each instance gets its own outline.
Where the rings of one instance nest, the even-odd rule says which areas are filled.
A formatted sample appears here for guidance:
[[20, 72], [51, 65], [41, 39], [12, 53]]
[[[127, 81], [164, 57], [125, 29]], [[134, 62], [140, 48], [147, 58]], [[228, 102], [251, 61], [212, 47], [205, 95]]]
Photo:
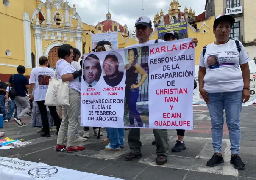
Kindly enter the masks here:
[[211, 43], [207, 45], [204, 57], [203, 52], [201, 53], [199, 66], [206, 68], [204, 76], [206, 92], [222, 93], [243, 90], [244, 82], [240, 64], [248, 63], [250, 58], [240, 41], [239, 44], [240, 55], [234, 40], [220, 45]]

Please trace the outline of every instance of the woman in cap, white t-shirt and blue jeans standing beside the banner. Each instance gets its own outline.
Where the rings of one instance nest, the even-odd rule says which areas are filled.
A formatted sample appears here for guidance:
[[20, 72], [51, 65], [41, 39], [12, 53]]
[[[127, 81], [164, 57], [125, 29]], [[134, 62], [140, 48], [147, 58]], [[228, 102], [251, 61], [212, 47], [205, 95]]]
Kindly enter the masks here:
[[239, 157], [240, 114], [242, 103], [250, 98], [250, 59], [240, 41], [228, 39], [234, 21], [226, 14], [216, 17], [213, 25], [216, 41], [203, 48], [199, 61], [199, 91], [207, 103], [212, 126], [214, 155], [207, 166], [224, 162], [221, 150], [225, 109], [231, 144], [230, 163], [236, 169], [245, 169]]

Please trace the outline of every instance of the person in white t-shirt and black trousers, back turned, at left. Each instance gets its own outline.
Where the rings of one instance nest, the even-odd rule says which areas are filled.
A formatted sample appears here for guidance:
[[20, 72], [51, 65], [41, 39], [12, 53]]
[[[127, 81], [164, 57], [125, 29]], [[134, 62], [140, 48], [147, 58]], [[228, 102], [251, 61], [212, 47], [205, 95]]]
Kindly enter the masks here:
[[[45, 95], [47, 93], [49, 79], [54, 77], [54, 71], [48, 66], [48, 58], [41, 56], [39, 58], [39, 67], [33, 68], [29, 78], [29, 98], [36, 101], [38, 105], [44, 133], [43, 137], [50, 137], [49, 121], [47, 117], [47, 107], [45, 106]], [[33, 95], [32, 95], [33, 94]], [[58, 116], [56, 106], [48, 106], [50, 114], [53, 117], [54, 125], [56, 125], [57, 132], [59, 131], [61, 122]]]

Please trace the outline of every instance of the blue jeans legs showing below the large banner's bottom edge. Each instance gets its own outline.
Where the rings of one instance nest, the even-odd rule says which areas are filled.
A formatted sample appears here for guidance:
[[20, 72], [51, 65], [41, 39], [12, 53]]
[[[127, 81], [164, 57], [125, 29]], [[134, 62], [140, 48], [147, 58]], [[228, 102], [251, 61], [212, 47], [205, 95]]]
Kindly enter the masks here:
[[125, 145], [125, 129], [124, 128], [106, 128], [110, 147], [114, 149], [120, 148], [121, 145]]

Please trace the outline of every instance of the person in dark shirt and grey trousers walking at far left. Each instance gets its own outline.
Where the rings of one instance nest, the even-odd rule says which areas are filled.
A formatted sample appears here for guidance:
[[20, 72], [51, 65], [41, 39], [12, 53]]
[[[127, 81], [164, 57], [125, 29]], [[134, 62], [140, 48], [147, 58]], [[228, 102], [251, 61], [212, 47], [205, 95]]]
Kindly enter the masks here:
[[[27, 89], [29, 88], [28, 78], [23, 74], [26, 71], [26, 68], [22, 65], [17, 67], [18, 74], [13, 74], [9, 79], [9, 87], [15, 89], [17, 95], [14, 98], [14, 102], [17, 106], [17, 118], [14, 118], [19, 127], [27, 126], [24, 122], [22, 122], [22, 117], [30, 110], [28, 96], [26, 95]], [[14, 82], [12, 78], [14, 76]], [[23, 107], [24, 109], [23, 109]]]

